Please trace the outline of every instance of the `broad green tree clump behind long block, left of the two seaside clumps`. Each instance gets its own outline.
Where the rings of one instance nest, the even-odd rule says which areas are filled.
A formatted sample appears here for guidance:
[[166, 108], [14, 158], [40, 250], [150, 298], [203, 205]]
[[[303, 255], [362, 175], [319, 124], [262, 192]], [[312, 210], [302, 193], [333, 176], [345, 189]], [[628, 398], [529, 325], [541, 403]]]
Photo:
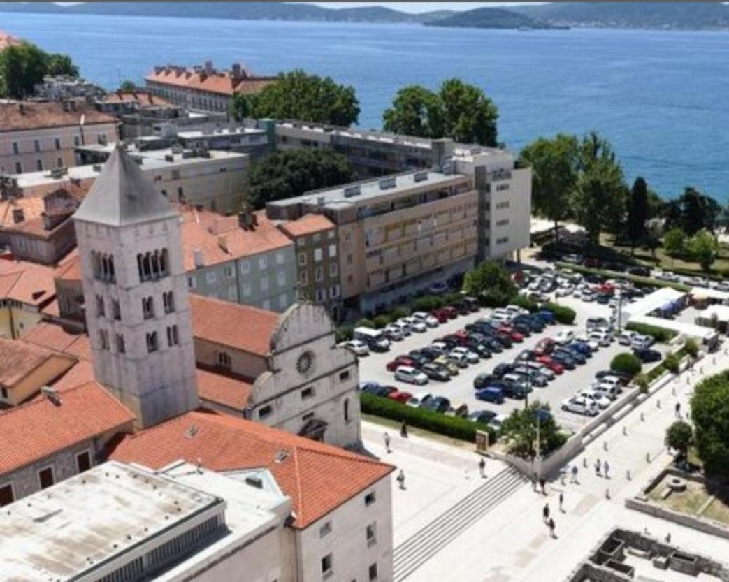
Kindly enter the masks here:
[[299, 119], [349, 126], [359, 119], [354, 87], [331, 77], [306, 74], [301, 69], [278, 75], [258, 95], [246, 98], [252, 117]]

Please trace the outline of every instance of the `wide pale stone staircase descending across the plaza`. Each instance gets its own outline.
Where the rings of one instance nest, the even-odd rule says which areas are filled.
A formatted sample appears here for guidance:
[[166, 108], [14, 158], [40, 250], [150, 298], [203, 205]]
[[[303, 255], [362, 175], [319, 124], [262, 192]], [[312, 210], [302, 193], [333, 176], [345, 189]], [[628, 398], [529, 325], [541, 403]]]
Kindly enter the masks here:
[[461, 532], [488, 514], [526, 482], [515, 468], [489, 477], [481, 487], [454, 504], [432, 522], [402, 542], [392, 552], [393, 579], [400, 582], [418, 570]]

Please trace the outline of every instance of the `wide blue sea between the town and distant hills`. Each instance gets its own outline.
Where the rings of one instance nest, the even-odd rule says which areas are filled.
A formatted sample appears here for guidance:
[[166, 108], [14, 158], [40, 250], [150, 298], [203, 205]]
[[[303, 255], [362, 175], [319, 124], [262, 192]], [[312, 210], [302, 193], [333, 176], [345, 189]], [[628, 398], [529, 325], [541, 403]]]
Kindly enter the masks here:
[[594, 129], [629, 180], [644, 176], [663, 197], [690, 184], [729, 198], [728, 33], [11, 13], [0, 13], [0, 29], [69, 53], [109, 88], [165, 63], [305, 68], [356, 87], [362, 127], [381, 126], [398, 87], [458, 76], [494, 98], [499, 138], [514, 151], [539, 135]]

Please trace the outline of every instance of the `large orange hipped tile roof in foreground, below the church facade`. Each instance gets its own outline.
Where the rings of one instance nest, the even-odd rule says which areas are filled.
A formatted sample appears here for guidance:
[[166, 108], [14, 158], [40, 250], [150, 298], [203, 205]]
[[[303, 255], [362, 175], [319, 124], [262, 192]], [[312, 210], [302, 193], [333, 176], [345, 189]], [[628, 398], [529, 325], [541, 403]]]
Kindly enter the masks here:
[[198, 410], [127, 436], [111, 458], [160, 468], [200, 460], [213, 471], [268, 468], [292, 499], [303, 529], [394, 470], [332, 445], [226, 414]]

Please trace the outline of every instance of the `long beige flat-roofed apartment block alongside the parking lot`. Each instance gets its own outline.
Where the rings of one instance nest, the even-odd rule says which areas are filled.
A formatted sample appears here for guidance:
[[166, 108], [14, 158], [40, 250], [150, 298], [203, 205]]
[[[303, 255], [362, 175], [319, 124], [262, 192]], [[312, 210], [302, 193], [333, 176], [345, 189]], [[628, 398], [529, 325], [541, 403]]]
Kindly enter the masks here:
[[473, 267], [478, 203], [467, 176], [421, 170], [270, 202], [268, 213], [336, 224], [345, 307], [374, 312]]

